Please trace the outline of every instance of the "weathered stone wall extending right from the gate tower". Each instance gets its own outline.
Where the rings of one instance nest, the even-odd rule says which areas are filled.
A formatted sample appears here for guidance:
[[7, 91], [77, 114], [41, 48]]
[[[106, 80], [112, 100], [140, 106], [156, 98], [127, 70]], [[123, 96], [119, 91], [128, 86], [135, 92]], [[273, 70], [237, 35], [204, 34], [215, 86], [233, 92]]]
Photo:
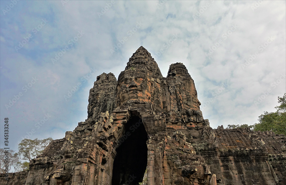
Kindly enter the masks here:
[[[285, 184], [286, 137], [249, 129], [215, 129], [212, 146], [194, 144], [219, 185]], [[212, 143], [212, 142], [209, 142]], [[219, 182], [221, 181], [221, 182]]]

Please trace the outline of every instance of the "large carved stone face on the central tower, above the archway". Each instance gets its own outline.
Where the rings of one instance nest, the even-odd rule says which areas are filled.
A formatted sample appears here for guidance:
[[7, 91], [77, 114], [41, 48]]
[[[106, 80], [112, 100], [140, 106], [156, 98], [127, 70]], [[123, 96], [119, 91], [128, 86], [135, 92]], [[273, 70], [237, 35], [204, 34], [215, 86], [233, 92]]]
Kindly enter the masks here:
[[148, 77], [148, 71], [127, 70], [121, 76], [118, 84], [118, 96], [120, 104], [124, 104], [129, 100], [134, 102], [150, 102], [150, 77]]

